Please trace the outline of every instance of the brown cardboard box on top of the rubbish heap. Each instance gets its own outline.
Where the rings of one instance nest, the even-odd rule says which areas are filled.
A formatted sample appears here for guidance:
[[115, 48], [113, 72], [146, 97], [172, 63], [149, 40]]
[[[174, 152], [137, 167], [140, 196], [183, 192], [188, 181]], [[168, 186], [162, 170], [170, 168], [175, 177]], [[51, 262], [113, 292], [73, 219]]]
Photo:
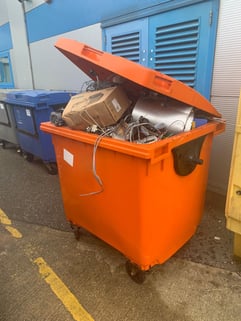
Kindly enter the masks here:
[[130, 105], [121, 87], [110, 87], [73, 96], [62, 118], [72, 129], [86, 130], [91, 125], [103, 128], [115, 124]]

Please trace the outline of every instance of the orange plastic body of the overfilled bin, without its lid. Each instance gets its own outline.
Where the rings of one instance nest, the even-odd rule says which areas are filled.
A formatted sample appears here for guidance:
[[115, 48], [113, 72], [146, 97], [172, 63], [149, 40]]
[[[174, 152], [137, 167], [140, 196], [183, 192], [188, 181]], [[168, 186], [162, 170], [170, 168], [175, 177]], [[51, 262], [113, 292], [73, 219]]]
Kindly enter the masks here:
[[[147, 145], [103, 138], [92, 170], [98, 136], [42, 123], [52, 134], [66, 217], [98, 236], [143, 270], [163, 263], [195, 233], [200, 222], [213, 136], [224, 124], [210, 122], [190, 132]], [[187, 176], [176, 174], [172, 149], [206, 136], [197, 165]]]

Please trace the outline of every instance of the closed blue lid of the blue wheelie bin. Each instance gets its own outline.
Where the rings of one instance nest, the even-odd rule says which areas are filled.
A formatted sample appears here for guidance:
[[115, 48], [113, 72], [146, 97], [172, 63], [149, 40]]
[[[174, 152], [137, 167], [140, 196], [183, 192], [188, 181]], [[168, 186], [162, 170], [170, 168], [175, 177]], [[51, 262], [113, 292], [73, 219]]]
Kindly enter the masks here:
[[6, 102], [33, 108], [67, 103], [76, 92], [54, 90], [25, 90], [7, 93]]

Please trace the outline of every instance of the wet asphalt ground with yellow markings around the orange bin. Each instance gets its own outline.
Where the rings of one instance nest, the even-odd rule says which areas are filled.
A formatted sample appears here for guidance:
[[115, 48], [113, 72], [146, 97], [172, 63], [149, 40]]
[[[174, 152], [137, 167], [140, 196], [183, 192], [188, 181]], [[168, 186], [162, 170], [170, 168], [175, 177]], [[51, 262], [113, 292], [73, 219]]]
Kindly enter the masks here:
[[75, 239], [60, 189], [40, 160], [0, 148], [0, 321], [241, 320], [223, 196], [207, 192], [196, 234], [140, 285], [121, 253], [84, 230]]

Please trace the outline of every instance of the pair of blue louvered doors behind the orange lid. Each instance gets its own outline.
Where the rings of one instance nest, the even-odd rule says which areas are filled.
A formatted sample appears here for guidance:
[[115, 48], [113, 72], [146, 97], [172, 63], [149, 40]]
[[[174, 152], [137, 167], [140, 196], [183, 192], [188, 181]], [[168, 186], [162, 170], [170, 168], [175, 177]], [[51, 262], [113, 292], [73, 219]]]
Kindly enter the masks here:
[[210, 98], [218, 0], [106, 28], [105, 49], [195, 88]]

